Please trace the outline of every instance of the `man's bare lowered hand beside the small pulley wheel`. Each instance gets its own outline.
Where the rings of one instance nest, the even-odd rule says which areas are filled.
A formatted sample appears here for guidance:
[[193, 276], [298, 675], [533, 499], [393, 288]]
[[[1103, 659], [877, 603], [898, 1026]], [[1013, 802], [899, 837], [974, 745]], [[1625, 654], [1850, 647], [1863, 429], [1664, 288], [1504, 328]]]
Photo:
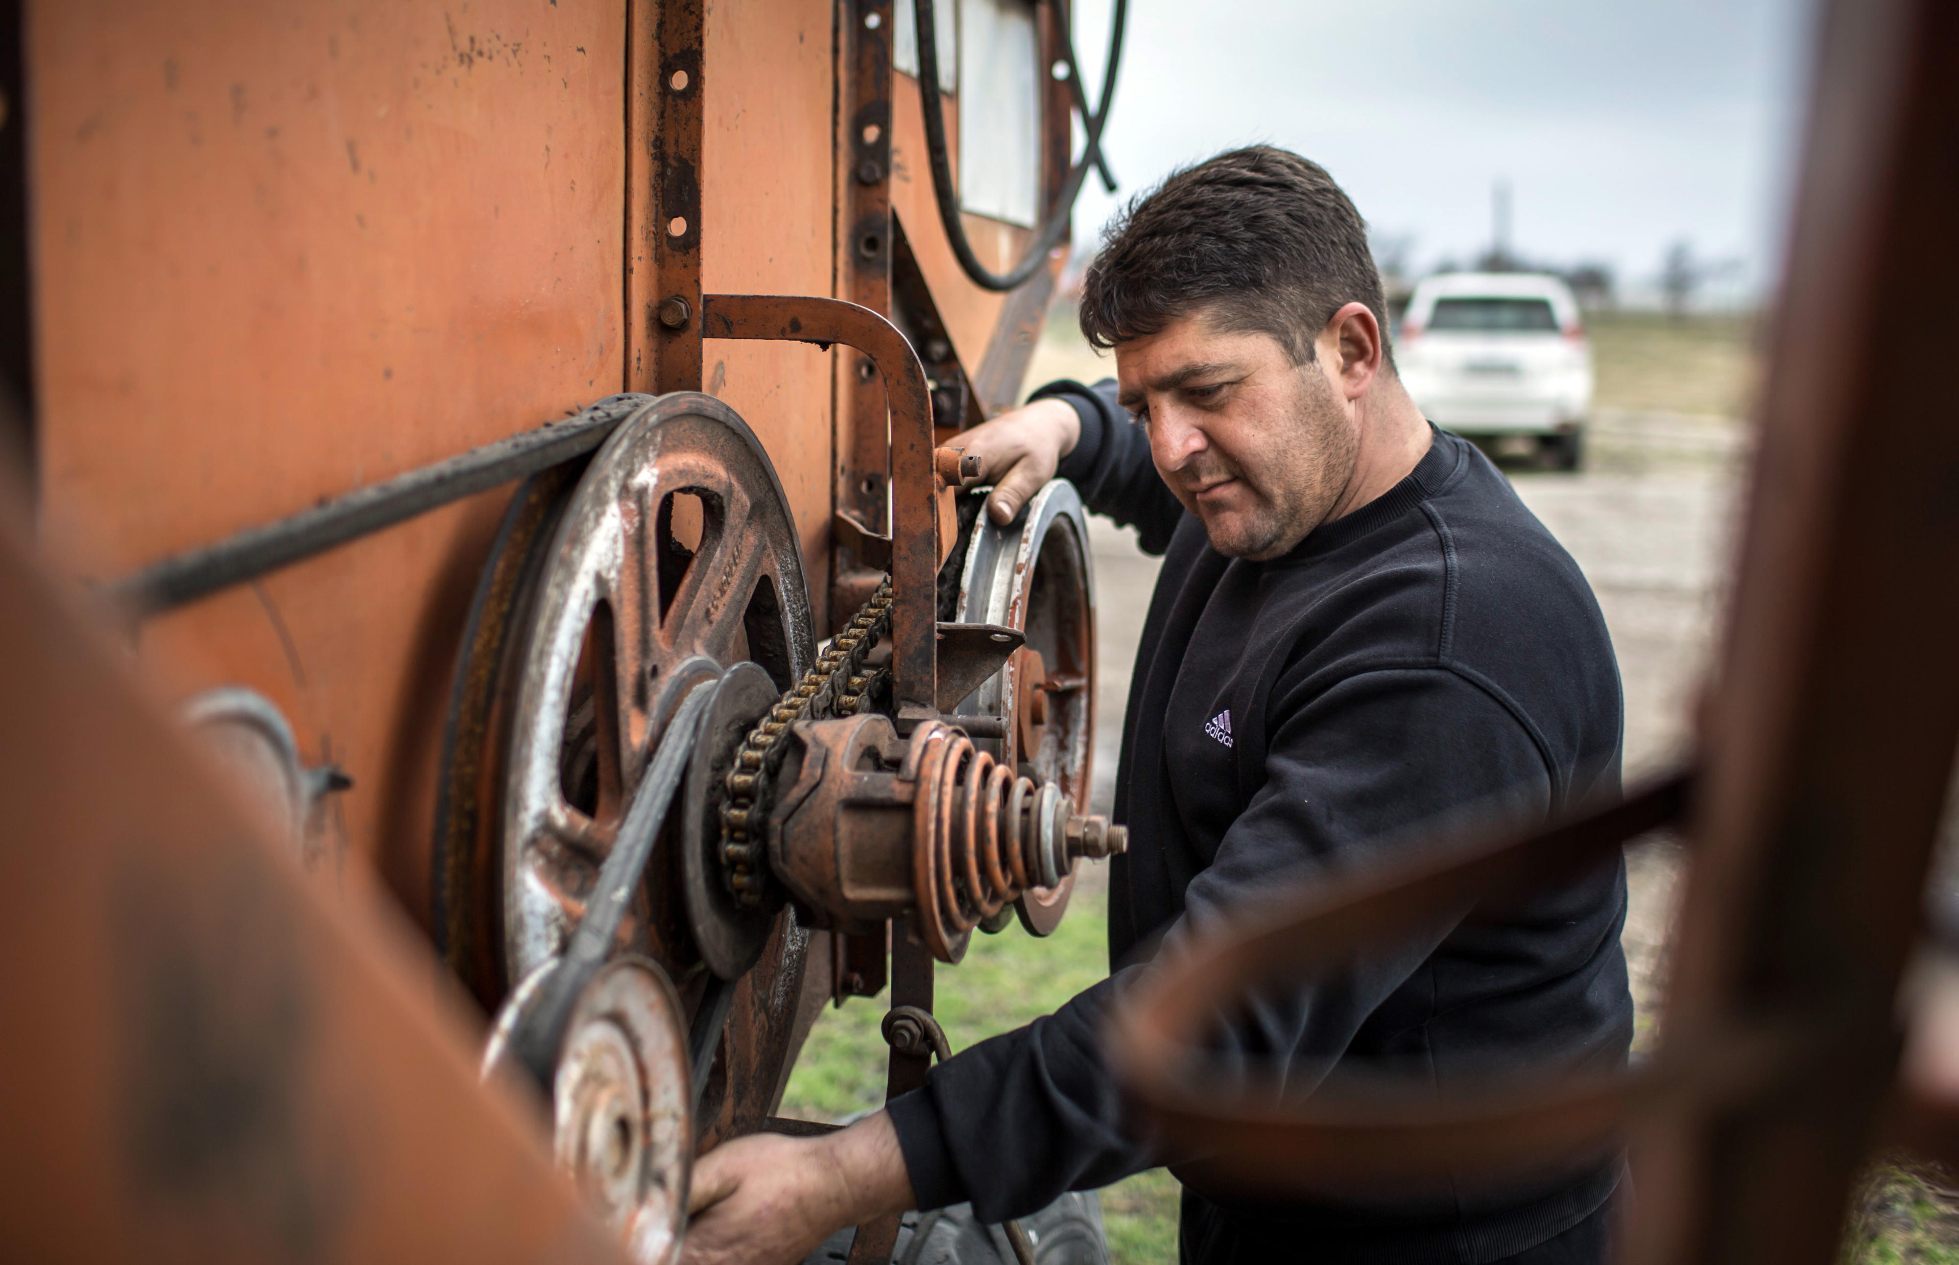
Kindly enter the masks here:
[[701, 1155], [682, 1265], [793, 1265], [844, 1226], [913, 1206], [884, 1112], [823, 1138], [752, 1134]]

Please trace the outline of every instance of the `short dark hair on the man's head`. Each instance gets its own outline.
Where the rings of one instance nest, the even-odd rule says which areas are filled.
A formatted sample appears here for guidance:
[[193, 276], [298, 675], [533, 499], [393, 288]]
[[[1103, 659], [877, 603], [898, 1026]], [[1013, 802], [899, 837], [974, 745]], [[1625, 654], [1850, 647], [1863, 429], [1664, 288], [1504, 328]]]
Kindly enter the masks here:
[[1205, 311], [1305, 364], [1354, 302], [1385, 343], [1387, 298], [1354, 202], [1320, 164], [1252, 145], [1185, 166], [1115, 217], [1081, 284], [1081, 333], [1115, 347]]

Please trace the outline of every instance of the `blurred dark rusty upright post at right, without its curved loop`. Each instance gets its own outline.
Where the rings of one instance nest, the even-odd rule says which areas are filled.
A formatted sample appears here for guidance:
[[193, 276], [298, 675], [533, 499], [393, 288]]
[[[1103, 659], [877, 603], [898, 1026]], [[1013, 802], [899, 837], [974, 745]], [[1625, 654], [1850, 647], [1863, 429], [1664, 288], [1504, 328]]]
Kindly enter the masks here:
[[1822, 1042], [1742, 1110], [1673, 1116], [1634, 1259], [1838, 1259], [1896, 1065], [1894, 999], [1959, 744], [1953, 472], [1959, 10], [1836, 0], [1716, 691], [1669, 1038], [1769, 1014]]

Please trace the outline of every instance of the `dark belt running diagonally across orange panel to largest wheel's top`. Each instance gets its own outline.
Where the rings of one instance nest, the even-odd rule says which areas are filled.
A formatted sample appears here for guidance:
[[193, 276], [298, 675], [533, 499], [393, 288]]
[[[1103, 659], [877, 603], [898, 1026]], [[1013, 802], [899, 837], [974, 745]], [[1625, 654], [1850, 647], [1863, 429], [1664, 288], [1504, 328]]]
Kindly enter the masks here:
[[349, 540], [453, 505], [478, 492], [592, 452], [645, 396], [609, 396], [566, 421], [545, 423], [460, 456], [370, 484], [300, 513], [247, 527], [215, 544], [153, 562], [108, 586], [110, 597], [139, 619], [257, 580]]

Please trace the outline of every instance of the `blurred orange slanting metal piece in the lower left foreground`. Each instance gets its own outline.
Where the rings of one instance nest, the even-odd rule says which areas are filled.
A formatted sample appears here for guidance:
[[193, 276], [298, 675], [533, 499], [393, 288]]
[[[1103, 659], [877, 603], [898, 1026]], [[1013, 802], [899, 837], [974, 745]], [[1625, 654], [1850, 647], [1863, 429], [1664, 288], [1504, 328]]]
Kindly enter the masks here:
[[439, 963], [306, 885], [10, 531], [0, 711], [0, 1259], [623, 1259]]

